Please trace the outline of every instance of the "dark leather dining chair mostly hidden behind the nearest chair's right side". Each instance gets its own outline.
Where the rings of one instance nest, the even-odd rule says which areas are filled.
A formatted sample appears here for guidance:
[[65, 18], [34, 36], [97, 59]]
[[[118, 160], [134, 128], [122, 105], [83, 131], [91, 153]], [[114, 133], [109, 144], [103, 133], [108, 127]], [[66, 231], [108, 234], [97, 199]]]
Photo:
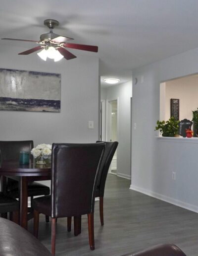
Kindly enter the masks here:
[[[99, 216], [100, 216], [100, 223], [101, 226], [104, 225], [104, 217], [103, 217], [103, 197], [104, 197], [104, 188], [106, 177], [108, 174], [108, 169], [111, 164], [113, 155], [115, 150], [117, 149], [118, 142], [105, 142], [105, 141], [97, 141], [97, 143], [104, 142], [105, 143], [105, 150], [102, 159], [102, 163], [100, 166], [99, 171], [99, 179], [96, 189], [96, 197], [99, 197]], [[71, 217], [67, 218], [67, 231], [71, 231]], [[74, 235], [77, 236], [81, 233], [81, 216], [74, 217]]]

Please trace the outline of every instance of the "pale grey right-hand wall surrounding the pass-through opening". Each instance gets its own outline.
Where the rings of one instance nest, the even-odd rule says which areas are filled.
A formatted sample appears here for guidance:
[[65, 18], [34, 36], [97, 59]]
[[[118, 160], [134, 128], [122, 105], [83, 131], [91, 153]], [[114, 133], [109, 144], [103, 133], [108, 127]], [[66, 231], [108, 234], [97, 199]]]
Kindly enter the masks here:
[[[195, 211], [198, 211], [197, 138], [158, 138], [154, 128], [159, 119], [160, 82], [197, 72], [198, 49], [134, 69], [133, 77], [138, 78], [138, 83], [133, 86], [132, 105], [131, 189]], [[176, 172], [175, 181], [172, 171]]]

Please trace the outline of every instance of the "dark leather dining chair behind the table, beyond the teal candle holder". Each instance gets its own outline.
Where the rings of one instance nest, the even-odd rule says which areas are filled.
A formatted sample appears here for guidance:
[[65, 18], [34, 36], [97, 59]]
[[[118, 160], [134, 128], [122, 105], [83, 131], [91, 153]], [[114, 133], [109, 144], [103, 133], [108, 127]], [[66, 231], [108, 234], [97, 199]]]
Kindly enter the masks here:
[[[33, 147], [33, 140], [0, 141], [0, 161], [19, 161], [20, 151], [30, 152]], [[49, 193], [49, 187], [46, 185], [38, 182], [31, 182], [28, 184], [28, 196], [31, 197], [31, 205], [34, 196], [47, 195]], [[13, 198], [19, 197], [18, 181], [8, 179], [6, 194]], [[31, 208], [30, 211], [32, 211]], [[46, 216], [46, 221], [49, 222], [49, 216]]]

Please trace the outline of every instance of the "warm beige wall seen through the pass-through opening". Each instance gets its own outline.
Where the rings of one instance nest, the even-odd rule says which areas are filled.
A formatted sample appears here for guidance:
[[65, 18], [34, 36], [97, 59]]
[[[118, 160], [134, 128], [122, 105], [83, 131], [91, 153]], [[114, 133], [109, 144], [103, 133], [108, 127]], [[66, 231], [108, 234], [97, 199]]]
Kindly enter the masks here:
[[165, 120], [170, 118], [170, 99], [180, 100], [180, 120], [185, 118], [192, 120], [192, 111], [197, 110], [198, 108], [198, 75], [167, 81], [165, 84]]

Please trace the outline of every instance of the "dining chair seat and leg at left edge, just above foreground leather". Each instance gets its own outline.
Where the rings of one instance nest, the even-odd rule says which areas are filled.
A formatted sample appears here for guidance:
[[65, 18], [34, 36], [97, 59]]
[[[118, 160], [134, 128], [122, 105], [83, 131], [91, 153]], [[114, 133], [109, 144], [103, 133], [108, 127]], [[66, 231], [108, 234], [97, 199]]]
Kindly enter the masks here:
[[18, 220], [19, 220], [18, 211], [19, 211], [19, 202], [16, 199], [0, 192], [0, 215], [3, 217], [4, 213], [9, 212], [11, 215], [10, 219], [18, 224]]

